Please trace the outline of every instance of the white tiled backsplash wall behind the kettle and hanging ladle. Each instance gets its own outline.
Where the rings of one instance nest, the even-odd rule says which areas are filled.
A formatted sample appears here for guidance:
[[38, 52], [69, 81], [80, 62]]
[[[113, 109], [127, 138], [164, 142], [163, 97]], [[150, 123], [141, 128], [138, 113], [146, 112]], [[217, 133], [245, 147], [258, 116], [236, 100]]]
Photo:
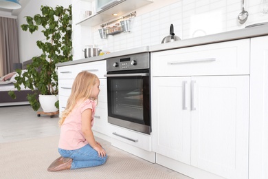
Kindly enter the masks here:
[[100, 25], [93, 28], [77, 25], [80, 27], [74, 28], [74, 59], [84, 58], [82, 49], [87, 44], [98, 44], [109, 52], [157, 45], [169, 34], [171, 23], [177, 36], [189, 39], [267, 22], [268, 14], [260, 12], [260, 3], [261, 0], [245, 0], [249, 17], [243, 25], [237, 19], [242, 11], [242, 0], [180, 0], [155, 10], [150, 8], [152, 3], [148, 5], [150, 12], [139, 14], [137, 10], [137, 16], [131, 21], [131, 32], [110, 35], [107, 39], [100, 39]]

